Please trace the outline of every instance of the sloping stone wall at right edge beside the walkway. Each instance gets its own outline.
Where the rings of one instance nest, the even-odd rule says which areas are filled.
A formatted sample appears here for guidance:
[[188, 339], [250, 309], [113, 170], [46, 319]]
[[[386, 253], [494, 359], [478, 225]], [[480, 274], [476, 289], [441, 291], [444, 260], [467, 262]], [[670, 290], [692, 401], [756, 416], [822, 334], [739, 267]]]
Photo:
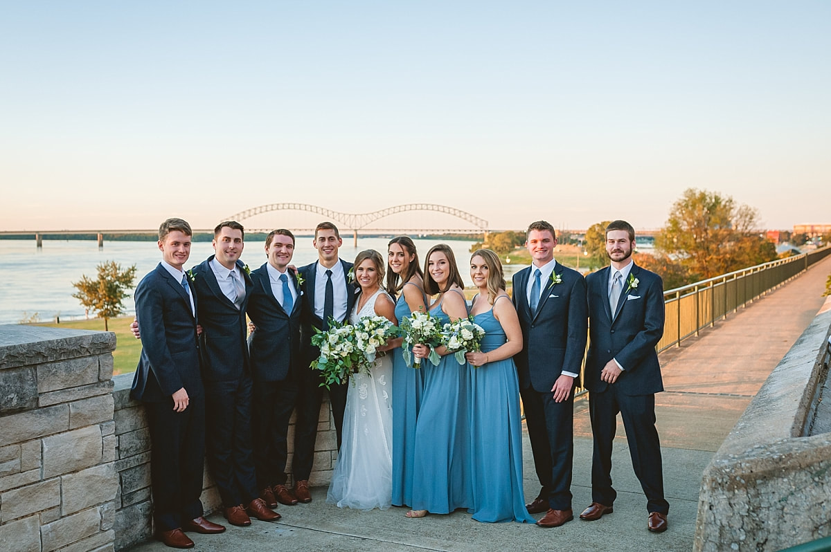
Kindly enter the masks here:
[[765, 552], [831, 535], [829, 328], [831, 298], [715, 453], [694, 550]]

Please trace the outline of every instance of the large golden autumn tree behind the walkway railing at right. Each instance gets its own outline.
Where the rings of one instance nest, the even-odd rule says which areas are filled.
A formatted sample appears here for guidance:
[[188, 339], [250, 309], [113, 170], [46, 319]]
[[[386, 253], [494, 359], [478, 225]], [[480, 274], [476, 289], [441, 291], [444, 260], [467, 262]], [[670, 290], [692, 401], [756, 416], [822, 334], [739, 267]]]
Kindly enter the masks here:
[[776, 248], [760, 236], [758, 225], [755, 208], [688, 188], [655, 238], [656, 256], [683, 267], [689, 282], [772, 261]]

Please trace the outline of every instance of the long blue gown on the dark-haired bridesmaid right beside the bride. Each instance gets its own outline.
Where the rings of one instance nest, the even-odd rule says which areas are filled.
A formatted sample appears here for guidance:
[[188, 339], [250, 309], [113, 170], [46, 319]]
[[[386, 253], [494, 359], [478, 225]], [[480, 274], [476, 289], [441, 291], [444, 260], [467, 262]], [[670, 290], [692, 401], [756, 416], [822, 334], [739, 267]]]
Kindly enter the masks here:
[[[407, 283], [405, 286], [415, 286]], [[417, 286], [416, 286], [417, 287]], [[398, 325], [411, 314], [404, 293], [396, 301]], [[413, 497], [413, 462], [416, 457], [416, 417], [421, 400], [421, 370], [407, 366], [401, 348], [392, 354], [392, 504], [410, 506]], [[411, 356], [412, 359], [412, 356]], [[428, 363], [429, 364], [429, 363]], [[423, 366], [423, 363], [422, 363]]]

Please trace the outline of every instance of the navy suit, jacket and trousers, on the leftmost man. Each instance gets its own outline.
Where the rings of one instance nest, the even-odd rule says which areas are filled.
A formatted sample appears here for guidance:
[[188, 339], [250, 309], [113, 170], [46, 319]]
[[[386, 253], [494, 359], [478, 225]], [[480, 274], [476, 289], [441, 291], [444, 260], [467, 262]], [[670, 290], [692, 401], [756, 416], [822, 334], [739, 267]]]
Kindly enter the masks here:
[[[135, 288], [135, 316], [142, 349], [130, 397], [145, 403], [155, 527], [168, 531], [203, 514], [205, 410], [197, 320], [187, 291], [161, 264]], [[189, 405], [177, 413], [171, 395], [181, 388]]]

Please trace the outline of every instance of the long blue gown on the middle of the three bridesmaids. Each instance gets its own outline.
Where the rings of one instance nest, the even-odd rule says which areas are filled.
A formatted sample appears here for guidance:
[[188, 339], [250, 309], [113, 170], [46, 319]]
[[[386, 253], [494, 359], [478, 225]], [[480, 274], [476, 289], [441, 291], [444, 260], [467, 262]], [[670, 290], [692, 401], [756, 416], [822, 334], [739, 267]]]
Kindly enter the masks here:
[[[441, 302], [430, 315], [442, 324], [450, 322]], [[453, 354], [445, 354], [438, 366], [422, 360], [420, 370], [424, 390], [416, 420], [411, 506], [434, 514], [471, 508], [468, 364], [460, 365]]]

